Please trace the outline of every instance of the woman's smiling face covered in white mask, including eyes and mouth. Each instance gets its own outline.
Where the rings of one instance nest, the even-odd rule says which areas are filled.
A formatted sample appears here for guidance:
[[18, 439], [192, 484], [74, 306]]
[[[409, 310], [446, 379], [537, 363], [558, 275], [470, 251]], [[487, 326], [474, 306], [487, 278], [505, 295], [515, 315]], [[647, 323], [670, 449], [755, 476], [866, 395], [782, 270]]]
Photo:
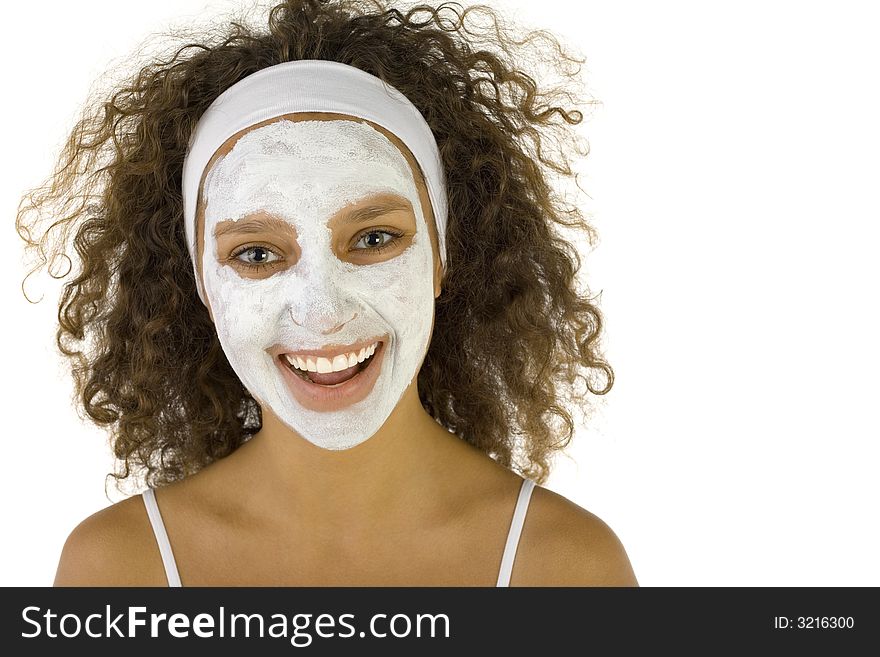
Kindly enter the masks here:
[[206, 170], [200, 226], [220, 344], [291, 429], [326, 449], [358, 445], [430, 343], [439, 271], [424, 185], [360, 120], [273, 120], [233, 144]]

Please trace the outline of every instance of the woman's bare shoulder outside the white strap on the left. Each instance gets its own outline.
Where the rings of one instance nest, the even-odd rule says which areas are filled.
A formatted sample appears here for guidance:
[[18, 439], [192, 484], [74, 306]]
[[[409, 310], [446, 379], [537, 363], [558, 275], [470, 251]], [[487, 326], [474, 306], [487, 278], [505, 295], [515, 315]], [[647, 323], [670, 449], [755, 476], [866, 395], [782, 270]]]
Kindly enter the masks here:
[[55, 586], [156, 586], [161, 556], [140, 495], [93, 513], [64, 542]]

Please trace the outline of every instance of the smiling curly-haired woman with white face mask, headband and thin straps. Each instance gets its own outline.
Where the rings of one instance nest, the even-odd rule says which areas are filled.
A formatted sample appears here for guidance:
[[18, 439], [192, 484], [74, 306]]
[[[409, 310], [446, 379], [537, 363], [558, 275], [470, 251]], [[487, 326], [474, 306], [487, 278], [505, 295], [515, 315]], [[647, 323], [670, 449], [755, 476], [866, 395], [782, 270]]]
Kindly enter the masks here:
[[148, 489], [56, 585], [637, 585], [540, 486], [563, 401], [613, 381], [553, 230], [590, 227], [542, 168], [571, 174], [546, 133], [580, 117], [475, 50], [473, 10], [283, 2], [74, 129], [19, 233], [50, 267], [74, 235], [59, 347]]

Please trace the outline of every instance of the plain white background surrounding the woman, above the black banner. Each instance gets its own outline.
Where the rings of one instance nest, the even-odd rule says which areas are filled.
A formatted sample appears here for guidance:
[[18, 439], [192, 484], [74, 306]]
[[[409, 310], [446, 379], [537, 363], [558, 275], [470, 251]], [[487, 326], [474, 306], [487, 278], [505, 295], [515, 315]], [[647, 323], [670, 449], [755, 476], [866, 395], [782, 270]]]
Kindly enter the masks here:
[[[872, 3], [491, 4], [586, 57], [602, 103], [580, 169], [617, 378], [547, 487], [615, 530], [645, 586], [880, 585]], [[58, 285], [22, 296], [18, 200], [102, 72], [239, 5], [6, 9], [0, 584], [51, 584], [70, 530], [120, 497], [55, 351]]]

